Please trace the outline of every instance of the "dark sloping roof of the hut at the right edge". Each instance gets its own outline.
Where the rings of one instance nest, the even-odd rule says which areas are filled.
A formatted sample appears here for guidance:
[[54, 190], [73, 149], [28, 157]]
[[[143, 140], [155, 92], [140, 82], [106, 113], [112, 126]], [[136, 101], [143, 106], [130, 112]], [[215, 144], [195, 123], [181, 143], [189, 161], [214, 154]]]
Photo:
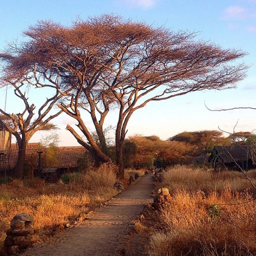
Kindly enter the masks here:
[[223, 163], [245, 161], [251, 159], [251, 151], [247, 145], [215, 146], [209, 160], [214, 157], [218, 157]]

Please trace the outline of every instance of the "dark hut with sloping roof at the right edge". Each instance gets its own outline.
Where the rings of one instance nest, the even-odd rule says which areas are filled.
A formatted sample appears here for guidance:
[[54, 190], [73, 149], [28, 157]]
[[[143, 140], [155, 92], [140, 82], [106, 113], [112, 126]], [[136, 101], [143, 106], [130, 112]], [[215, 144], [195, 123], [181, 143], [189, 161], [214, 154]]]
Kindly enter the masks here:
[[247, 171], [256, 168], [252, 154], [250, 147], [247, 145], [215, 146], [210, 154], [208, 163], [211, 163], [215, 171], [225, 168]]

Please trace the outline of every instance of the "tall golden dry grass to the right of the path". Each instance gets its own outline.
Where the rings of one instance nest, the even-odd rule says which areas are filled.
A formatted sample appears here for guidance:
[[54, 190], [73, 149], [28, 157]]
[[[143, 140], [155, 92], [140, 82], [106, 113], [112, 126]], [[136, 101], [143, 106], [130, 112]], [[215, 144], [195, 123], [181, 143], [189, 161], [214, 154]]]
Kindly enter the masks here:
[[[184, 166], [166, 172], [161, 186], [173, 200], [158, 215], [149, 255], [256, 255], [256, 191], [239, 176]], [[256, 170], [249, 177], [255, 184]]]

